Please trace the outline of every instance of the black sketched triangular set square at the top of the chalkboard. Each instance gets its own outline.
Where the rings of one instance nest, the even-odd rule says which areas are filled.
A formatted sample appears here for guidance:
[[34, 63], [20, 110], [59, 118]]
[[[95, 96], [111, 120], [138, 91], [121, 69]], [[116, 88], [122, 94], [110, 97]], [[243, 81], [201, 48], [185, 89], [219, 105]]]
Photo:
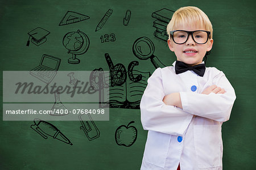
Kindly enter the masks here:
[[61, 19], [61, 22], [59, 23], [60, 25], [67, 25], [67, 24], [72, 24], [72, 23], [77, 23], [80, 22], [82, 20], [86, 20], [89, 19], [89, 16], [83, 15], [83, 14], [79, 14], [77, 12], [72, 12], [72, 11], [68, 11], [65, 16], [63, 17], [63, 19]]

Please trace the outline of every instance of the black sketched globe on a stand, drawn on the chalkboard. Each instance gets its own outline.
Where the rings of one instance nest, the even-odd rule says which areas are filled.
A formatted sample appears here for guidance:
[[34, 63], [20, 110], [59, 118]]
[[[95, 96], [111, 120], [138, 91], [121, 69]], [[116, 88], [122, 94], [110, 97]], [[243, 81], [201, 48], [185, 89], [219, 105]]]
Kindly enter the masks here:
[[89, 44], [88, 36], [80, 30], [66, 33], [63, 37], [63, 45], [68, 49], [68, 53], [72, 54], [72, 57], [68, 59], [68, 63], [80, 63], [80, 59], [76, 58], [76, 55], [84, 54], [88, 50]]

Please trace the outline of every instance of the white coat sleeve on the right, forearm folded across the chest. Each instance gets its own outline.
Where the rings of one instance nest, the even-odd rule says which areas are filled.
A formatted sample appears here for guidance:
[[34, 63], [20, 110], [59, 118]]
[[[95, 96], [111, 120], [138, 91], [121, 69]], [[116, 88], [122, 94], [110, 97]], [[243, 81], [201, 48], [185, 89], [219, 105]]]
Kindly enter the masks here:
[[205, 95], [195, 92], [180, 92], [183, 111], [219, 122], [228, 121], [234, 100], [236, 100], [234, 88], [222, 71], [214, 76], [213, 84], [224, 88], [226, 93], [214, 94], [212, 92]]

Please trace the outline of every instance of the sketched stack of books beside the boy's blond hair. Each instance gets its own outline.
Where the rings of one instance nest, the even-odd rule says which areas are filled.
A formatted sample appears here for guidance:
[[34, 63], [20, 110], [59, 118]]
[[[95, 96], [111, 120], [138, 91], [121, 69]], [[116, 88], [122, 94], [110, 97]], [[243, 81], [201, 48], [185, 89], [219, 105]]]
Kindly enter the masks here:
[[155, 11], [152, 13], [152, 18], [156, 18], [154, 21], [153, 27], [156, 28], [154, 32], [154, 36], [160, 40], [167, 41], [168, 34], [166, 32], [166, 27], [172, 18], [172, 14], [175, 11], [168, 10], [167, 8], [163, 8], [162, 10]]

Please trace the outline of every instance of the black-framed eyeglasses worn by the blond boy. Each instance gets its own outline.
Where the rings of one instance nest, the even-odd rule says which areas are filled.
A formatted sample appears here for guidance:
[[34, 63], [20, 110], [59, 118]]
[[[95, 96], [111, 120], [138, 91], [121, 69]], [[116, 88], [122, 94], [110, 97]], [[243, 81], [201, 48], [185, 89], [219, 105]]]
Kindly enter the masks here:
[[184, 44], [185, 42], [187, 42], [189, 35], [192, 36], [192, 39], [197, 44], [205, 44], [207, 43], [210, 37], [210, 32], [203, 31], [203, 30], [196, 30], [196, 31], [175, 30], [175, 31], [170, 31], [170, 35], [172, 37], [172, 40], [174, 40], [176, 44]]

